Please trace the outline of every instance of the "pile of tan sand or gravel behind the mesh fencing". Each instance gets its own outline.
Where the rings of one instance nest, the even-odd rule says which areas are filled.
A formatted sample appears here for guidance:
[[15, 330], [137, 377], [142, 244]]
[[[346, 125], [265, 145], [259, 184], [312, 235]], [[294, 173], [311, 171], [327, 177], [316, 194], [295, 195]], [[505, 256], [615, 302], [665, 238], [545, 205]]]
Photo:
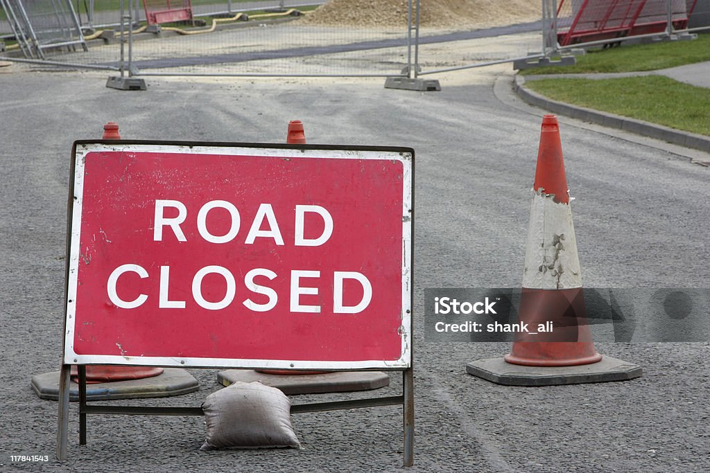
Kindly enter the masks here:
[[[407, 0], [330, 0], [300, 22], [406, 28], [407, 3]], [[486, 28], [537, 21], [542, 16], [540, 0], [420, 0], [420, 5], [422, 28]]]

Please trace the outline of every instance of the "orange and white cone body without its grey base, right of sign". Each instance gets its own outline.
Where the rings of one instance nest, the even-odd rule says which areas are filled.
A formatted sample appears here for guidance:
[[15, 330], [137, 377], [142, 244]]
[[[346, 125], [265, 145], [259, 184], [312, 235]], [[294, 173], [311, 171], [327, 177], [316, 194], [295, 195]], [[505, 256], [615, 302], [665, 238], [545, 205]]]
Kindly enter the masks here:
[[522, 333], [506, 362], [529, 366], [572, 366], [596, 363], [584, 310], [581, 268], [569, 207], [567, 176], [557, 117], [542, 118], [528, 243], [525, 248], [520, 323], [552, 332]]

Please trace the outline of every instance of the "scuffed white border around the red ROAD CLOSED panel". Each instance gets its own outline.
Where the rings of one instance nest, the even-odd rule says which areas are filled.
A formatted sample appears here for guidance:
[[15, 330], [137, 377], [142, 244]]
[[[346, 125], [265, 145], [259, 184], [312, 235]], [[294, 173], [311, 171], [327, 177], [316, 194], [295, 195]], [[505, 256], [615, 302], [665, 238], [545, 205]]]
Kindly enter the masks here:
[[[170, 152], [190, 155], [234, 155], [256, 157], [305, 157], [320, 159], [394, 160], [403, 165], [402, 208], [402, 350], [398, 360], [305, 361], [244, 360], [202, 357], [131, 357], [121, 355], [79, 355], [74, 351], [77, 278], [80, 258], [84, 157], [90, 152]], [[297, 156], [288, 156], [297, 155]], [[75, 143], [71, 196], [70, 245], [67, 255], [67, 306], [65, 312], [64, 356], [66, 365], [138, 365], [161, 367], [219, 367], [267, 369], [406, 369], [412, 367], [412, 262], [413, 262], [413, 153], [392, 149], [324, 147], [293, 149], [263, 145], [188, 145], [167, 143]]]

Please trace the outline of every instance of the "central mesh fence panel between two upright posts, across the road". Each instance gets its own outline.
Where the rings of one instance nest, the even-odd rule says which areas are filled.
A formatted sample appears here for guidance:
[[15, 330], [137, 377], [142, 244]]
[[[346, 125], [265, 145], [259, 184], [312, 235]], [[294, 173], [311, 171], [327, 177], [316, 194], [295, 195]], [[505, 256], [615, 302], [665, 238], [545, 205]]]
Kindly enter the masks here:
[[209, 6], [217, 13], [205, 13], [208, 6], [198, 1], [192, 6], [203, 26], [161, 25], [160, 38], [136, 30], [134, 74], [385, 77], [408, 64], [406, 8], [373, 23], [347, 0], [322, 7], [283, 0]]

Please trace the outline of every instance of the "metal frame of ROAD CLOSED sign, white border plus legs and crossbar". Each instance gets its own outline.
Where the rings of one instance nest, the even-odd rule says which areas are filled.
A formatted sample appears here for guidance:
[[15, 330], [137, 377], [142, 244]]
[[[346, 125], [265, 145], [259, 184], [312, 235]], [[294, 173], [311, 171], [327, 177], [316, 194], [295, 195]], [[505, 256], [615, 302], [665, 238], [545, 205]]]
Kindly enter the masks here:
[[[364, 360], [361, 362], [320, 362], [318, 360], [293, 362], [292, 360], [233, 360], [224, 358], [201, 357], [123, 357], [92, 356], [75, 353], [73, 339], [73, 321], [75, 320], [75, 301], [77, 294], [77, 262], [80, 254], [78, 243], [82, 217], [83, 159], [89, 151], [131, 151], [170, 152], [185, 155], [236, 155], [251, 157], [280, 157], [288, 151], [297, 152], [299, 157], [313, 159], [380, 159], [396, 160], [403, 163], [403, 233], [402, 233], [402, 306], [401, 327], [402, 352], [399, 360]], [[292, 155], [295, 154], [292, 152]], [[241, 153], [241, 155], [240, 155]], [[193, 407], [138, 407], [138, 406], [97, 406], [87, 404], [86, 366], [87, 365], [150, 365], [162, 367], [210, 367], [210, 368], [279, 368], [279, 369], [325, 369], [325, 370], [362, 370], [384, 369], [403, 373], [403, 392], [399, 396], [374, 399], [350, 399], [316, 404], [292, 406], [292, 413], [330, 411], [372, 406], [403, 405], [404, 429], [404, 464], [413, 464], [414, 433], [414, 382], [413, 382], [413, 228], [414, 228], [414, 150], [411, 148], [369, 147], [369, 146], [325, 146], [325, 145], [283, 145], [263, 143], [187, 143], [143, 140], [84, 140], [74, 143], [72, 149], [72, 177], [67, 201], [67, 264], [65, 271], [65, 344], [62, 353], [60, 372], [60, 394], [58, 415], [57, 457], [64, 460], [67, 456], [67, 425], [69, 411], [70, 367], [78, 365], [80, 398], [80, 445], [87, 440], [86, 416], [89, 413], [110, 414], [146, 414], [146, 415], [202, 415], [202, 408]]]

